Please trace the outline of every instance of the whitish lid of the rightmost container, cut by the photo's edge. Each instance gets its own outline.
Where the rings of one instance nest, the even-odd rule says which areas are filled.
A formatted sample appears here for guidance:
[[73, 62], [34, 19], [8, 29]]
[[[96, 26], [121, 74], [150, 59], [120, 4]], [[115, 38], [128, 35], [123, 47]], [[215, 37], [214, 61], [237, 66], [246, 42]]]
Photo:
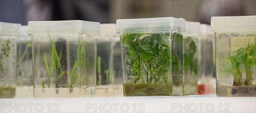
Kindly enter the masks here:
[[256, 16], [212, 17], [212, 31], [255, 30]]

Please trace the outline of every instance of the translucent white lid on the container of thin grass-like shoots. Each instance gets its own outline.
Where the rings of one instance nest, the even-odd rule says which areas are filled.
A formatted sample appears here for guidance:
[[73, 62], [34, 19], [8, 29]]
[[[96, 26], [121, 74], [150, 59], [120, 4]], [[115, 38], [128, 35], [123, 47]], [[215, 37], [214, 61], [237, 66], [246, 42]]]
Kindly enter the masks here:
[[29, 35], [43, 34], [99, 34], [99, 22], [83, 20], [29, 21]]

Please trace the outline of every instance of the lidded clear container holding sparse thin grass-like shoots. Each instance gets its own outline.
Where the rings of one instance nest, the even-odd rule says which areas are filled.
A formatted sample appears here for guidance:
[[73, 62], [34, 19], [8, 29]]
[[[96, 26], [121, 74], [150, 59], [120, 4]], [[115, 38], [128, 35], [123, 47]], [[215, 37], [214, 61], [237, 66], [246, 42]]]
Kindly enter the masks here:
[[99, 23], [29, 21], [28, 26], [33, 46], [34, 96], [94, 96]]

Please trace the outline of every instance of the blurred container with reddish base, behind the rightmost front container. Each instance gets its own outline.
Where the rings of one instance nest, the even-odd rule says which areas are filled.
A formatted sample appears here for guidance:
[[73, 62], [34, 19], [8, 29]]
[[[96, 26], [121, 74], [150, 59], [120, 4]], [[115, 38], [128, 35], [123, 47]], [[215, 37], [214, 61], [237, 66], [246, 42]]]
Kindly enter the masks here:
[[216, 90], [215, 63], [214, 63], [214, 35], [211, 26], [201, 24], [201, 50], [199, 58], [201, 61], [200, 68], [202, 75], [198, 81], [198, 95], [212, 94]]

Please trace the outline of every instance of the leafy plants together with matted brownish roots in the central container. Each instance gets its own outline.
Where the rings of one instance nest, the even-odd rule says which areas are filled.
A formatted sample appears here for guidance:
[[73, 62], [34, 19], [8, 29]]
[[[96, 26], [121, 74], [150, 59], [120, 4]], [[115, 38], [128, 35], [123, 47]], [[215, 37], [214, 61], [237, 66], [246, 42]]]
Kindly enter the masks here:
[[126, 76], [132, 79], [124, 83], [125, 96], [172, 95], [171, 65], [172, 72], [179, 73], [179, 66], [182, 64], [177, 52], [174, 51], [175, 43], [171, 53], [170, 37], [182, 42], [182, 35], [179, 39], [180, 35], [176, 33], [172, 36], [159, 33], [134, 33], [122, 36], [123, 63], [129, 67]]

